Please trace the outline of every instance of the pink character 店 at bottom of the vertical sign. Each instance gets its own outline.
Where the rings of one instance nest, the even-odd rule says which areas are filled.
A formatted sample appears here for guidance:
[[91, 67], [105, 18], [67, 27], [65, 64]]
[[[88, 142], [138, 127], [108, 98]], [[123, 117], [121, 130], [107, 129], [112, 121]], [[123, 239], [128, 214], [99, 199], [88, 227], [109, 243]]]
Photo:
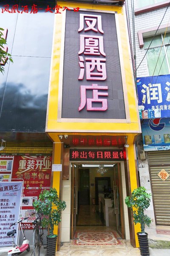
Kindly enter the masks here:
[[[86, 90], [93, 90], [93, 98], [86, 99]], [[108, 109], [108, 101], [107, 99], [98, 98], [98, 96], [108, 96], [108, 93], [99, 92], [98, 90], [108, 90], [108, 86], [98, 86], [98, 84], [81, 85], [80, 87], [80, 95], [81, 95], [81, 103], [79, 105], [79, 111], [81, 111], [86, 104], [87, 100], [87, 111], [106, 111]], [[92, 107], [93, 102], [102, 103], [102, 107]]]

